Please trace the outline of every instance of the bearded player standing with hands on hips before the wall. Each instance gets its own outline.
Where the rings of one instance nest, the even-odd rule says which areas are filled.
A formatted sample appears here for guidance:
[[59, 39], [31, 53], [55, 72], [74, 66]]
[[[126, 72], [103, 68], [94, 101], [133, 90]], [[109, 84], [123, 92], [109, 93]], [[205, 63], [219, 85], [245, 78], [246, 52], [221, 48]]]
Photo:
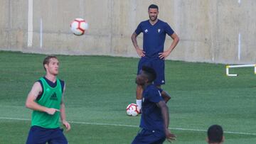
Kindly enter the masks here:
[[[162, 92], [161, 85], [165, 84], [164, 79], [164, 60], [168, 57], [172, 50], [178, 44], [178, 35], [174, 33], [168, 23], [157, 18], [159, 8], [155, 4], [151, 4], [148, 9], [149, 20], [142, 21], [132, 34], [132, 43], [137, 54], [141, 59], [139, 60], [138, 71], [142, 69], [143, 65], [154, 68], [157, 77], [154, 84], [159, 87], [162, 95], [168, 101], [171, 97], [166, 92]], [[137, 35], [143, 33], [143, 49], [139, 48], [137, 43]], [[173, 41], [169, 49], [164, 50], [164, 41], [166, 34], [169, 35]], [[139, 107], [142, 106], [142, 87], [137, 85], [136, 103]]]

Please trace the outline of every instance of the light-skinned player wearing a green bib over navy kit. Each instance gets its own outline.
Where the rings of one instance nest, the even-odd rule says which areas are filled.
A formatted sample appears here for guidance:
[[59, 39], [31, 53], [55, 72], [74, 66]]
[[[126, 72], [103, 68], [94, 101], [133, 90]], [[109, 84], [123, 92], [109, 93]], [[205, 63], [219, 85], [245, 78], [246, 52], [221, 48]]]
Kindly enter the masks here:
[[63, 96], [65, 83], [57, 78], [59, 61], [55, 56], [43, 60], [46, 76], [33, 84], [26, 99], [26, 107], [33, 110], [31, 129], [26, 143], [68, 143], [59, 120], [70, 130], [70, 123], [65, 118]]

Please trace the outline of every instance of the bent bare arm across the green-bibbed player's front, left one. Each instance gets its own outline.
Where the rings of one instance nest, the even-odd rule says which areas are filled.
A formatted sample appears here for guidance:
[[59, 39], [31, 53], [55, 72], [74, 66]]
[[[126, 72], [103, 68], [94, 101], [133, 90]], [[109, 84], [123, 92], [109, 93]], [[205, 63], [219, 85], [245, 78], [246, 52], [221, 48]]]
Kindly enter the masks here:
[[26, 107], [29, 109], [33, 109], [35, 111], [43, 111], [50, 115], [53, 115], [56, 111], [59, 111], [58, 109], [41, 106], [35, 102], [36, 98], [38, 97], [39, 94], [41, 94], [41, 92], [42, 92], [41, 84], [39, 82], [35, 82], [33, 84], [31, 92], [29, 92], [28, 97], [26, 99]]

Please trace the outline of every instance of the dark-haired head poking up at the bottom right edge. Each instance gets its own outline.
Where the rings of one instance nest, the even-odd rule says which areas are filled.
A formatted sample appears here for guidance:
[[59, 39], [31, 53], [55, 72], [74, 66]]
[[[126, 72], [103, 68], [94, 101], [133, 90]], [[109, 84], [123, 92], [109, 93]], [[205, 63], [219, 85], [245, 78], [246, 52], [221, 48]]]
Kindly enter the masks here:
[[209, 143], [220, 143], [223, 140], [223, 128], [219, 125], [212, 125], [207, 131]]

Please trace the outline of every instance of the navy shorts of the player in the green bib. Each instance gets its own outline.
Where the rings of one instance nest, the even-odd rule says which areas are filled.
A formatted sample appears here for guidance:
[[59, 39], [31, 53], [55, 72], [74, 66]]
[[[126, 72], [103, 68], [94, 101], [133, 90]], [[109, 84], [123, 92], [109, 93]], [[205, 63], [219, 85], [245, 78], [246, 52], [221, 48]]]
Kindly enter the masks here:
[[68, 144], [62, 128], [42, 128], [32, 126], [26, 144]]

